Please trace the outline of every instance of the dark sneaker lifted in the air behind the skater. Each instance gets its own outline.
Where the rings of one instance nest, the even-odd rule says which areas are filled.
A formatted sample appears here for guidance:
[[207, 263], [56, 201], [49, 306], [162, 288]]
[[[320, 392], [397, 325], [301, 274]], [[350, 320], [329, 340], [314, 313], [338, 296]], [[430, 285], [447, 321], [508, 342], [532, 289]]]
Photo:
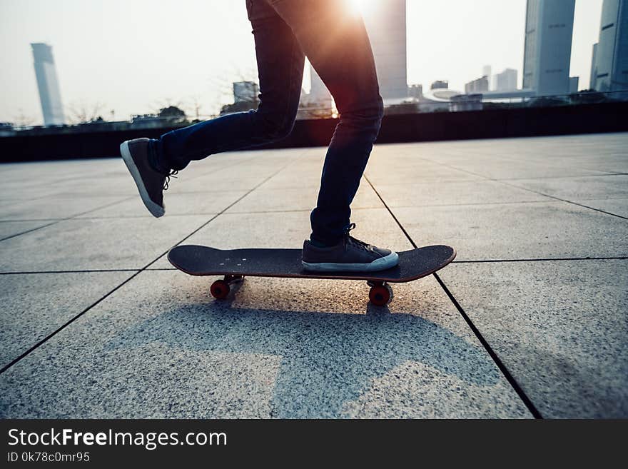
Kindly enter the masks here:
[[159, 218], [166, 213], [163, 204], [163, 191], [168, 189], [170, 176], [177, 171], [163, 174], [155, 171], [148, 163], [148, 138], [127, 140], [120, 146], [120, 153], [128, 171], [131, 172], [142, 201], [153, 216]]

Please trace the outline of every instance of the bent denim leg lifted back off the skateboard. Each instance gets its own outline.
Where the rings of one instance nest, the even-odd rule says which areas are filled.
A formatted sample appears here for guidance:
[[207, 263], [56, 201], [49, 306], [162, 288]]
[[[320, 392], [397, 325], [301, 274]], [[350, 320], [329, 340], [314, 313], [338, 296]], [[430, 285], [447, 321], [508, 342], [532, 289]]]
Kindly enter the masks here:
[[153, 141], [161, 168], [181, 170], [213, 153], [259, 146], [294, 126], [305, 56], [285, 21], [265, 0], [246, 0], [260, 81], [258, 109], [180, 128]]

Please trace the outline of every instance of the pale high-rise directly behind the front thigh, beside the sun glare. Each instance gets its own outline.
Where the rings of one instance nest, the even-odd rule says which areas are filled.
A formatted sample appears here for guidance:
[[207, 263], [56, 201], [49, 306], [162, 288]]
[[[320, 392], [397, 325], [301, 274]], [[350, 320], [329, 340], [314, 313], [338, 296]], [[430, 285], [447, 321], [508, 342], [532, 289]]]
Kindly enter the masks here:
[[406, 0], [372, 1], [364, 22], [385, 104], [407, 98]]

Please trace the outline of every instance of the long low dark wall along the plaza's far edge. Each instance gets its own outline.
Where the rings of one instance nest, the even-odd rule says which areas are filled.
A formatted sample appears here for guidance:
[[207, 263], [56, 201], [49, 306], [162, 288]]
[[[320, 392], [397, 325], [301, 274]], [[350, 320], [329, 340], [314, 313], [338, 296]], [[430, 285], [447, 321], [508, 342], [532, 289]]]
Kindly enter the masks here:
[[[628, 131], [628, 102], [546, 108], [385, 116], [378, 143], [510, 138]], [[258, 148], [326, 146], [338, 120], [297, 121], [288, 138]], [[0, 137], [0, 161], [118, 156], [122, 141], [156, 138], [171, 128]]]

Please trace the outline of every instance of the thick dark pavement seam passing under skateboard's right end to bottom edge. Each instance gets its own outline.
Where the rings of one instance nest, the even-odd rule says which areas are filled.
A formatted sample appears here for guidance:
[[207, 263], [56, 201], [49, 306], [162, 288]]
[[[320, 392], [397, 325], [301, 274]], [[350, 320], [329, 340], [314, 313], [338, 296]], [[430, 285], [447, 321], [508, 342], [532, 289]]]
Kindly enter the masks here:
[[[373, 186], [373, 184], [368, 180], [368, 178], [365, 177], [365, 179], [369, 183], [371, 188], [373, 188], [373, 191], [375, 191], [375, 193], [378, 195], [378, 197], [380, 198], [384, 206], [388, 209], [388, 213], [390, 213], [390, 216], [393, 217], [393, 219], [397, 223], [397, 226], [399, 226], [399, 228], [401, 229], [401, 231], [403, 232], [407, 240], [410, 241], [410, 243], [412, 244], [414, 248], [417, 248], [417, 244], [414, 242], [414, 240], [412, 240], [412, 237], [410, 236], [410, 234], [407, 233], [405, 228], [397, 219], [397, 217], [395, 216], [395, 213], [393, 213], [393, 211], [390, 210], [390, 208], [388, 207], [388, 205], [386, 204], [382, 196], [380, 196], [380, 193], [377, 191], [377, 189], [375, 189], [375, 186]], [[471, 329], [472, 333], [475, 335], [477, 340], [480, 341], [480, 344], [485, 349], [485, 351], [489, 354], [490, 358], [493, 360], [493, 363], [497, 365], [497, 368], [500, 369], [500, 371], [502, 372], [502, 375], [506, 378], [506, 380], [508, 381], [512, 389], [515, 390], [515, 393], [517, 393], [519, 398], [522, 400], [527, 410], [532, 414], [532, 416], [534, 416], [534, 418], [542, 419], [543, 417], [541, 413], [539, 412], [539, 410], [537, 410], [534, 403], [532, 403], [532, 400], [530, 400], [530, 398], [527, 396], [525, 391], [522, 389], [521, 385], [517, 383], [517, 380], [515, 380], [515, 377], [510, 373], [510, 371], [508, 370], [506, 365], [502, 362], [502, 360], [497, 355], [497, 353], [493, 351], [490, 344], [482, 336], [482, 333], [480, 333], [480, 330], [477, 327], [475, 327], [475, 324], [471, 321], [471, 318], [467, 316], [467, 313], [465, 313], [465, 310], [462, 308], [462, 306], [460, 306], [460, 303], [457, 302], [456, 298], [449, 291], [449, 288], [447, 288], [445, 283], [440, 279], [439, 276], [437, 276], [437, 273], [433, 273], [432, 275], [434, 276], [434, 278], [436, 278], [436, 281], [440, 285], [440, 288], [442, 288], [442, 291], [445, 292], [445, 294], [450, 299], [454, 307], [457, 309], [458, 313], [460, 313], [460, 316], [462, 316], [462, 319], [467, 323], [467, 326], [469, 326], [469, 328]]]

